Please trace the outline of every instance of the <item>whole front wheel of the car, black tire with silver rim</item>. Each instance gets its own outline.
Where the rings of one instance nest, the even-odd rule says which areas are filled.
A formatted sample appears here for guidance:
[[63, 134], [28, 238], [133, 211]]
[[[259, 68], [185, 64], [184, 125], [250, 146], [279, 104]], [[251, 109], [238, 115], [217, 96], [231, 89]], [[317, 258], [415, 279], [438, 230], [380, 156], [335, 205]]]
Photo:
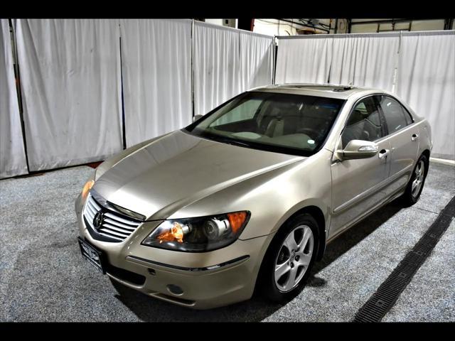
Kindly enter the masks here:
[[309, 214], [298, 215], [277, 232], [259, 274], [264, 296], [287, 301], [304, 287], [318, 249], [318, 224]]

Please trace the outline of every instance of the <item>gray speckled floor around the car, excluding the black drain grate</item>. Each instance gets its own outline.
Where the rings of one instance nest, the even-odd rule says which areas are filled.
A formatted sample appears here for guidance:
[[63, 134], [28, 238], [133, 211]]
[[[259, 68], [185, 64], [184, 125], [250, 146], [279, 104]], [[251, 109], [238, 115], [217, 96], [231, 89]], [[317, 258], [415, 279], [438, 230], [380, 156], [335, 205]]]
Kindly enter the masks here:
[[[392, 202], [336, 239], [294, 300], [195, 311], [114, 287], [82, 259], [74, 199], [90, 172], [0, 181], [0, 321], [349, 321], [455, 195], [455, 168], [432, 163], [416, 205]], [[452, 222], [384, 320], [455, 321], [454, 239]]]

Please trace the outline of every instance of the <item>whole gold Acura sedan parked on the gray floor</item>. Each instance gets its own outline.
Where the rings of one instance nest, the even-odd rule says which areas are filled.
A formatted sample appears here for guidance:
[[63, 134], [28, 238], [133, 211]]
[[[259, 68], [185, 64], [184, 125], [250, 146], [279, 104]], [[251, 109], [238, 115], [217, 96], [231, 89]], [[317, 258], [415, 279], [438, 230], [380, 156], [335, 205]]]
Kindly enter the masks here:
[[329, 242], [419, 200], [431, 149], [428, 122], [388, 92], [260, 87], [102, 163], [75, 203], [80, 250], [189, 308], [287, 301]]

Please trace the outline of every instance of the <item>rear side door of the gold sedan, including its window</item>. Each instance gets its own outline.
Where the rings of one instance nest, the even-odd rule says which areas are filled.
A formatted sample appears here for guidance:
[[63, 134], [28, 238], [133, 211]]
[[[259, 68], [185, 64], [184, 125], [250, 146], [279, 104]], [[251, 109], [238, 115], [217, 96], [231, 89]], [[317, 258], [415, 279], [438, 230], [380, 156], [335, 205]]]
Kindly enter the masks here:
[[376, 96], [387, 128], [386, 139], [390, 141], [390, 183], [385, 188], [393, 195], [403, 188], [412, 173], [419, 151], [419, 128], [397, 99], [389, 95]]

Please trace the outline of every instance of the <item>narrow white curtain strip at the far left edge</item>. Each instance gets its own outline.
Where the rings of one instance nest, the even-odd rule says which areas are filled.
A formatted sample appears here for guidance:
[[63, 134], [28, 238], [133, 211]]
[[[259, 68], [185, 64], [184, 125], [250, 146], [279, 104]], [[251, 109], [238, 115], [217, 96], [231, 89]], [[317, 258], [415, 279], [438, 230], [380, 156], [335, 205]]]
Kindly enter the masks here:
[[8, 19], [0, 26], [0, 179], [28, 173]]

